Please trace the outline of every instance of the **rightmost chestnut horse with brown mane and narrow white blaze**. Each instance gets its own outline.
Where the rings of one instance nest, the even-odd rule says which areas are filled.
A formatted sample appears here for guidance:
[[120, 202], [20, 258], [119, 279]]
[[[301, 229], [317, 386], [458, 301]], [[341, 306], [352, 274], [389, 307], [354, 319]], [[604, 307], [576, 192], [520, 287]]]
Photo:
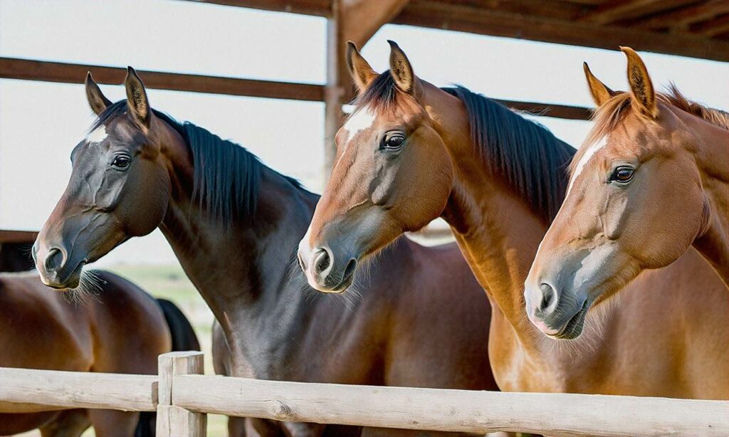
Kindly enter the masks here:
[[631, 92], [610, 90], [585, 64], [595, 126], [526, 280], [558, 299], [607, 299], [692, 245], [729, 284], [729, 114], [675, 87], [655, 92], [638, 54], [623, 52]]

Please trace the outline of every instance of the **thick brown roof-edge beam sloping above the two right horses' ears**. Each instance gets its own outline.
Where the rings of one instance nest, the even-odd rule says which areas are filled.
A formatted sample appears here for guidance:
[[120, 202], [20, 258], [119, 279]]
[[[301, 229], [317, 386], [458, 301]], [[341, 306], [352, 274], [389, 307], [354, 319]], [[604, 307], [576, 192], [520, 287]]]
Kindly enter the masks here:
[[410, 0], [410, 4], [394, 18], [394, 23], [609, 50], [627, 45], [640, 51], [729, 61], [729, 42], [701, 36], [666, 36], [615, 25], [525, 17], [456, 4], [446, 6], [434, 0]]

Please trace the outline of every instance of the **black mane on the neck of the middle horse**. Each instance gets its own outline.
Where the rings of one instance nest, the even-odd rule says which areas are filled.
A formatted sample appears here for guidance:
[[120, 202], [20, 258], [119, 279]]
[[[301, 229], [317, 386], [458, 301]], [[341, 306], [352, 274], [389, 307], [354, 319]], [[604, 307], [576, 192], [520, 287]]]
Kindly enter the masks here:
[[464, 87], [443, 88], [466, 106], [471, 138], [489, 171], [498, 173], [550, 223], [567, 188], [575, 150], [549, 130]]

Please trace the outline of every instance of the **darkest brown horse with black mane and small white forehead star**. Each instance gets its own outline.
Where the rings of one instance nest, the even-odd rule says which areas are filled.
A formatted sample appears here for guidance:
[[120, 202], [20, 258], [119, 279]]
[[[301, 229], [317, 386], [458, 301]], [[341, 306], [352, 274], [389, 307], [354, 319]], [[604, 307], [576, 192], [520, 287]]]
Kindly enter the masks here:
[[[455, 245], [401, 240], [356, 282], [361, 302], [307, 295], [289, 266], [319, 197], [241, 146], [152, 110], [131, 68], [125, 86], [128, 99], [112, 104], [87, 78], [99, 118], [74, 149], [69, 186], [36, 241], [46, 283], [74, 286], [84, 264], [160, 227], [219, 321], [221, 373], [496, 389], [488, 304]], [[230, 422], [235, 434], [241, 425]], [[360, 432], [255, 419], [246, 427], [271, 436]]]

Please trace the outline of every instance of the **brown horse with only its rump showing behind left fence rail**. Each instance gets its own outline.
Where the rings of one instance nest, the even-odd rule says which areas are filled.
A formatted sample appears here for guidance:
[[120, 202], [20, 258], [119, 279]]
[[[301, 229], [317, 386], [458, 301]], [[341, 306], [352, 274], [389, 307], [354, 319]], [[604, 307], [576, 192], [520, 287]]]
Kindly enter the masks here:
[[[0, 274], [0, 366], [157, 374], [157, 355], [171, 350], [160, 305], [122, 277], [92, 275], [96, 295], [71, 302], [35, 272]], [[99, 437], [150, 435], [149, 424], [138, 428], [139, 417], [93, 409], [3, 413], [0, 435], [40, 428], [42, 436], [80, 436], [90, 425]]]

